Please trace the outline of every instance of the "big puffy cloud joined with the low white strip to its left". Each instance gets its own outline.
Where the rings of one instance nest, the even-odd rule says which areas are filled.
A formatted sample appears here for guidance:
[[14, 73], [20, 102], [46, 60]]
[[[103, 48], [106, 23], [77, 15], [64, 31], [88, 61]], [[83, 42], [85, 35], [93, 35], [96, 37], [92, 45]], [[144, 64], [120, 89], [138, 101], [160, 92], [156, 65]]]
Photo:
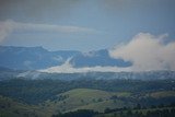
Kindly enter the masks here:
[[131, 61], [131, 67], [82, 67], [73, 68], [68, 59], [63, 65], [51, 67], [40, 72], [78, 73], [78, 72], [120, 72], [120, 71], [151, 71], [173, 70], [175, 71], [175, 43], [165, 43], [167, 34], [154, 36], [149, 33], [136, 35], [128, 44], [117, 45], [109, 49], [112, 58], [121, 58]]

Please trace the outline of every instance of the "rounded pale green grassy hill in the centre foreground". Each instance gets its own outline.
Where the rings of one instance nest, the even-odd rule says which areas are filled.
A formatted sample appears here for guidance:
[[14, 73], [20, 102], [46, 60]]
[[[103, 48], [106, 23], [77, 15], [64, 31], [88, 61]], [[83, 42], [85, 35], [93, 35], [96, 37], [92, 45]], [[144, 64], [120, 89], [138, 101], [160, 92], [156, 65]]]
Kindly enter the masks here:
[[[114, 93], [101, 90], [91, 89], [75, 89], [57, 95], [57, 98], [47, 101], [44, 105], [45, 109], [52, 110], [52, 113], [66, 113], [77, 109], [93, 109], [96, 112], [104, 112], [105, 108], [116, 108], [128, 106], [122, 101], [112, 100], [113, 96], [127, 97], [130, 93]], [[132, 105], [131, 103], [129, 104]], [[42, 106], [42, 105], [40, 105]]]

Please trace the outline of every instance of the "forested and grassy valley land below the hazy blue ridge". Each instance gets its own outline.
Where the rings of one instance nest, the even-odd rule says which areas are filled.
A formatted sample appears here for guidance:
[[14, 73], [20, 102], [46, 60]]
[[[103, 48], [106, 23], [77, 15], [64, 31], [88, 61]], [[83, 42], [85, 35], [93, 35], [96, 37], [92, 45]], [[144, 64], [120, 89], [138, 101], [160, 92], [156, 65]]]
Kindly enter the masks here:
[[2, 117], [51, 117], [77, 110], [103, 114], [138, 104], [151, 108], [174, 104], [174, 80], [10, 79], [0, 82], [0, 114]]

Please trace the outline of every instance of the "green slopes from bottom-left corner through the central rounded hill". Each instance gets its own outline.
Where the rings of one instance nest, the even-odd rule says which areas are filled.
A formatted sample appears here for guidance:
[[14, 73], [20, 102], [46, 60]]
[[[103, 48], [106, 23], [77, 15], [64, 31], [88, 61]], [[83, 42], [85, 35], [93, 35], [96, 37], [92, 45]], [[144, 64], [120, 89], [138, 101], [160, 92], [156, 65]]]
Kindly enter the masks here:
[[[49, 117], [52, 114], [74, 112], [77, 109], [93, 109], [104, 112], [105, 108], [127, 106], [122, 101], [113, 101], [113, 96], [127, 97], [128, 92], [106, 92], [91, 89], [74, 89], [57, 95], [38, 105], [28, 105], [0, 96], [1, 117]], [[130, 104], [132, 105], [132, 104]]]

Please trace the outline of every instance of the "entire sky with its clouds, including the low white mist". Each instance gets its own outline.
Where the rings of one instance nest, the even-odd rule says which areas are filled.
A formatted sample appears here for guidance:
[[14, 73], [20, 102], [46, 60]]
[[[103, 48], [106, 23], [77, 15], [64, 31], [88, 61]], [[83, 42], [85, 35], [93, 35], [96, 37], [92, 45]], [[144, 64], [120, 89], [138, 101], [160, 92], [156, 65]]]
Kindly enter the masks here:
[[[107, 49], [127, 71], [175, 70], [175, 0], [0, 0], [0, 45]], [[62, 68], [118, 70], [47, 71]]]

